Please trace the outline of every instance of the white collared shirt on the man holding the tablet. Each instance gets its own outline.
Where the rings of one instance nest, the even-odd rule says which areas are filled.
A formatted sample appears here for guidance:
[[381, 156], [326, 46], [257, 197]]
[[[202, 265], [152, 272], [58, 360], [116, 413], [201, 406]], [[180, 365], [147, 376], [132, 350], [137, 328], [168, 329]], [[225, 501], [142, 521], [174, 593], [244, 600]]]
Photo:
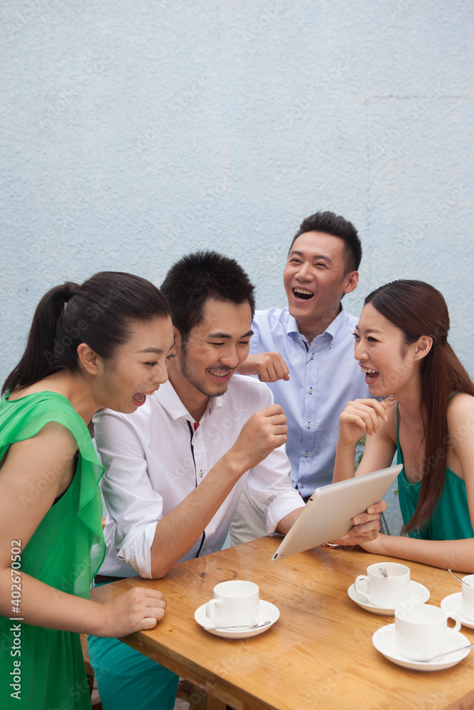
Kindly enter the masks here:
[[[107, 409], [97, 413], [95, 438], [105, 467], [101, 486], [109, 510], [100, 574], [131, 577], [138, 572], [151, 578], [150, 548], [158, 521], [200, 485], [235, 444], [249, 417], [271, 404], [266, 385], [234, 375], [222, 397], [210, 398], [197, 430], [169, 381], [133, 414]], [[180, 562], [222, 548], [246, 481], [266, 515], [267, 532], [273, 533], [285, 515], [304, 505], [290, 473], [285, 448], [279, 447], [241, 476], [205, 534]]]

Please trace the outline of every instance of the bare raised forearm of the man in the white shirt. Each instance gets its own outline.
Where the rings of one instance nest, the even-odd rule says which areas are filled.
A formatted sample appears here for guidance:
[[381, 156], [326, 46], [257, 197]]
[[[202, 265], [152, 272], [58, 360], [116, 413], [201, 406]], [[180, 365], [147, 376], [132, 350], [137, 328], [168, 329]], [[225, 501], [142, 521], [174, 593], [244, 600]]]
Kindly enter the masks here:
[[158, 520], [151, 544], [152, 579], [164, 577], [193, 547], [245, 470], [226, 454], [179, 506]]

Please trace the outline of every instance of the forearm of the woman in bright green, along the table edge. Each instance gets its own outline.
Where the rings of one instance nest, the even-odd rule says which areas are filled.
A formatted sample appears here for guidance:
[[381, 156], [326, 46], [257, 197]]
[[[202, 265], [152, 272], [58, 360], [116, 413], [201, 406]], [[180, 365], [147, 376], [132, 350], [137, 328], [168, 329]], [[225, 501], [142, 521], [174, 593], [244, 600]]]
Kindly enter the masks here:
[[[0, 613], [7, 618], [22, 618], [32, 626], [43, 626], [77, 633], [102, 633], [102, 604], [81, 599], [54, 589], [29, 574], [21, 574], [18, 607], [11, 603], [11, 569], [0, 574]], [[14, 611], [19, 608], [20, 613]]]

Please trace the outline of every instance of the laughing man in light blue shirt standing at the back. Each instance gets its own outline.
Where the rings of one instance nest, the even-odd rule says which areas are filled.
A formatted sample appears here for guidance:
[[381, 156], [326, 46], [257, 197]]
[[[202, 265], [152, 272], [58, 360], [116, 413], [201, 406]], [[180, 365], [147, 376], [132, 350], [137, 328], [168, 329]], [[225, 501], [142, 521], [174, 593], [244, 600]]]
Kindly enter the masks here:
[[[354, 359], [357, 318], [341, 305], [343, 295], [357, 286], [361, 257], [357, 230], [346, 219], [333, 212], [304, 219], [284, 268], [288, 307], [255, 313], [249, 358], [239, 369], [266, 382], [284, 409], [291, 479], [304, 499], [333, 479], [338, 420], [345, 405], [370, 396]], [[245, 531], [250, 515], [244, 493], [232, 524], [232, 544], [256, 536], [257, 529]]]

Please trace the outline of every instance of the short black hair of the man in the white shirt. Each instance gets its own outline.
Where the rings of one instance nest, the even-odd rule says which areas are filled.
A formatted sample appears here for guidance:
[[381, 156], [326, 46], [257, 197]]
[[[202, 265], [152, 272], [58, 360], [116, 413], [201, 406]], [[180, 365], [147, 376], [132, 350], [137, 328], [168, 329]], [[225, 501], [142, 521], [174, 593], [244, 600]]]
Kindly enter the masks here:
[[185, 341], [190, 329], [204, 317], [209, 298], [240, 304], [249, 302], [255, 312], [254, 285], [235, 259], [217, 251], [196, 251], [171, 267], [161, 284], [168, 298], [171, 319]]

